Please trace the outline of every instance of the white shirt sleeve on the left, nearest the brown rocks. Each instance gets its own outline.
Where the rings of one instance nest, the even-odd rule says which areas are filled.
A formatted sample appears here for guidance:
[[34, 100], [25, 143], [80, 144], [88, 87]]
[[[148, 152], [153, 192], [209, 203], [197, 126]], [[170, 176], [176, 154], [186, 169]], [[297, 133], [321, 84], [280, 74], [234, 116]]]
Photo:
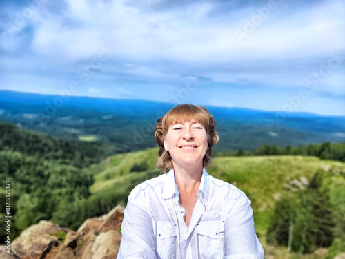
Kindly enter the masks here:
[[156, 258], [152, 218], [147, 202], [140, 195], [131, 195], [121, 225], [121, 243], [117, 259]]

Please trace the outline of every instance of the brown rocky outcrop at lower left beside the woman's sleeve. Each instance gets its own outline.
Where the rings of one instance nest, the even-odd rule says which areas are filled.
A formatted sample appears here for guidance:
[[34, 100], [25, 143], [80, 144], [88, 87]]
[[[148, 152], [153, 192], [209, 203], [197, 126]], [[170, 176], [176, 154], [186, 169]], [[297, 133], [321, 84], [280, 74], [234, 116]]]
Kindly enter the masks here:
[[109, 259], [116, 258], [124, 208], [115, 207], [99, 218], [90, 218], [78, 231], [41, 220], [12, 242], [12, 253], [0, 247], [4, 259]]

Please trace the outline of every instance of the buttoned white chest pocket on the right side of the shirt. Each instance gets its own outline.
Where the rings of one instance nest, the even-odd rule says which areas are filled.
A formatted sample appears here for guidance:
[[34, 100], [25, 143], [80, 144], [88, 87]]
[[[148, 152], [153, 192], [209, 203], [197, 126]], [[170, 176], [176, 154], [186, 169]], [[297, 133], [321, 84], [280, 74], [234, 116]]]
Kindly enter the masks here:
[[223, 258], [225, 251], [224, 222], [203, 221], [197, 225], [199, 258]]

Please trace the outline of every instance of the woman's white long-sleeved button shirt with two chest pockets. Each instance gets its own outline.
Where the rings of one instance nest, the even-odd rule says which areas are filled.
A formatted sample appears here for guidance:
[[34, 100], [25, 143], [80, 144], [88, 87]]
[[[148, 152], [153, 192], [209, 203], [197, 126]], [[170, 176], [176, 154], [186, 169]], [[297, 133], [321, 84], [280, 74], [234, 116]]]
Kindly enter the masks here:
[[250, 200], [205, 169], [189, 227], [170, 170], [139, 184], [128, 197], [117, 258], [264, 259]]

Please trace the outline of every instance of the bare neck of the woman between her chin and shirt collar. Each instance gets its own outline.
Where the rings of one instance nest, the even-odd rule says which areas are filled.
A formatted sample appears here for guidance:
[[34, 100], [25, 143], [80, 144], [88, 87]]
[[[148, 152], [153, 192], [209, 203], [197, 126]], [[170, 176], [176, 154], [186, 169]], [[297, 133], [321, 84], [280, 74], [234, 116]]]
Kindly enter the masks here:
[[179, 166], [179, 164], [174, 165], [175, 181], [179, 191], [185, 193], [192, 193], [197, 191], [200, 186], [201, 176], [202, 176], [202, 162], [193, 166]]

